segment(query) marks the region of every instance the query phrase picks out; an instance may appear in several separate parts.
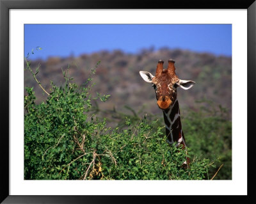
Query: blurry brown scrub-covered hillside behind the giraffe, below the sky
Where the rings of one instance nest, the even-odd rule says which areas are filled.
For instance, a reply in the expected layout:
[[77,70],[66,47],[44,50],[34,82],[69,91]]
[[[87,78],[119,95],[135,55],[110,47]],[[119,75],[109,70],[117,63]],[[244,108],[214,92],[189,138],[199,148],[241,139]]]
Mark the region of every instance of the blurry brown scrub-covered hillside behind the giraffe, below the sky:
[[[195,109],[196,100],[212,100],[220,104],[228,111],[228,118],[231,119],[231,86],[232,68],[231,58],[225,56],[214,56],[207,53],[196,53],[182,51],[179,49],[169,50],[144,49],[139,54],[125,54],[122,51],[102,51],[93,54],[83,54],[79,57],[49,58],[47,61],[31,61],[31,67],[37,67],[40,63],[38,78],[44,85],[45,90],[51,87],[51,81],[60,85],[63,82],[61,68],[70,67],[70,75],[81,85],[90,74],[90,68],[97,66],[94,82],[97,86],[94,92],[108,93],[111,95],[104,104],[99,104],[100,109],[115,109],[129,113],[124,106],[132,107],[139,111],[142,106],[145,113],[162,115],[156,105],[156,96],[152,87],[141,80],[139,71],[145,70],[155,74],[156,65],[159,59],[165,61],[175,59],[176,72],[180,79],[193,80],[196,85],[189,91],[178,90],[179,104],[182,107]],[[47,98],[42,95],[42,89],[37,86],[33,76],[25,73],[25,86],[35,88],[36,102]]]

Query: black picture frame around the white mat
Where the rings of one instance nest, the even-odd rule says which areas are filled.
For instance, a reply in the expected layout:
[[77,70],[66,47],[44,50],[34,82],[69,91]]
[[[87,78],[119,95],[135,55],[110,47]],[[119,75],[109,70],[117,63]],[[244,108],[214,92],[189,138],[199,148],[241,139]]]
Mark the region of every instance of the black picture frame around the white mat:
[[[247,39],[248,39],[248,63],[247,63],[247,138],[248,138],[248,195],[247,196],[10,196],[9,189],[9,11],[10,9],[246,9],[247,19]],[[104,1],[104,0],[0,0],[1,13],[1,46],[0,46],[0,96],[1,96],[1,177],[0,177],[0,201],[3,203],[140,203],[150,202],[193,202],[207,201],[211,203],[243,202],[255,203],[253,184],[253,164],[255,161],[255,134],[253,131],[253,116],[255,115],[254,104],[256,87],[256,2],[255,0],[182,0],[168,2],[156,1]],[[245,67],[246,65],[244,65]],[[244,86],[241,81],[241,86]],[[246,91],[246,90],[244,90]],[[243,105],[242,105],[243,106]],[[246,132],[246,131],[244,131]],[[244,134],[243,137],[246,137]]]

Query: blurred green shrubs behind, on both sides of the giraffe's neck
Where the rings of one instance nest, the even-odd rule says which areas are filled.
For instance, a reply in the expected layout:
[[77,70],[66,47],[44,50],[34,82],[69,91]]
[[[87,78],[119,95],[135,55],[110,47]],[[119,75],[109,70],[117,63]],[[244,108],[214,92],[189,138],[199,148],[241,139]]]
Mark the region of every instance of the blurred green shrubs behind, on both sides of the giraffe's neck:
[[[127,107],[127,109],[131,111],[131,114],[109,111],[105,116],[109,122],[115,118],[118,127],[125,128],[125,118],[129,118],[131,125],[136,125],[140,121],[139,115],[145,114],[143,107],[138,113],[135,113],[131,107]],[[101,113],[103,110],[99,110],[99,112]],[[232,122],[227,109],[211,100],[204,99],[197,101],[195,110],[181,107],[181,117],[182,130],[185,134],[186,145],[190,148],[191,158],[207,158],[214,161],[216,167],[210,168],[208,171],[210,178],[232,179]],[[154,121],[152,131],[156,131],[158,127],[164,127],[161,114],[147,113],[147,119]],[[163,133],[160,137],[165,137],[165,134]]]

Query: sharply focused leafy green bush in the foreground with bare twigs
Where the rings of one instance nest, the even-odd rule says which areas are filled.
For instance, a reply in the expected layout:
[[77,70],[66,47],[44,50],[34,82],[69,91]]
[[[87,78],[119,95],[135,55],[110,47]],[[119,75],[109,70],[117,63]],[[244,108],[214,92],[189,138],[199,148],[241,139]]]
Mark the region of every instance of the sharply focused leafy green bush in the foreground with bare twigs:
[[[27,70],[34,73],[29,63]],[[93,72],[94,73],[94,72]],[[214,159],[191,158],[168,145],[156,120],[140,118],[136,125],[125,117],[123,127],[107,127],[106,119],[92,114],[92,100],[104,102],[109,95],[92,96],[91,77],[77,86],[63,71],[65,84],[51,84],[51,93],[35,103],[33,88],[24,97],[24,178],[102,180],[201,180],[209,179]],[[38,84],[40,82],[36,79]],[[190,150],[188,150],[190,155]]]

